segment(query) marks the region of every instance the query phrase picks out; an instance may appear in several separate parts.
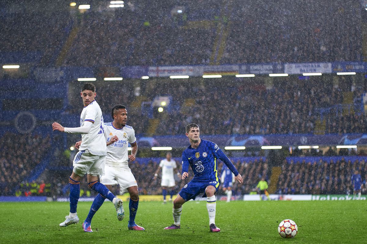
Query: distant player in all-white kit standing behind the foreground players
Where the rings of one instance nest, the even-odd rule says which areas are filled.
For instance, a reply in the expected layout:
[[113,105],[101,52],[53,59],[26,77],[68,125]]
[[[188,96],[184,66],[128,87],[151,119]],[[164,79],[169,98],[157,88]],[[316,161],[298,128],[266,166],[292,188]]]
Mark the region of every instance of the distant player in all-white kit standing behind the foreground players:
[[167,188],[170,190],[170,201],[172,200],[172,196],[175,194],[174,187],[175,187],[175,178],[174,178],[174,169],[177,170],[177,174],[180,176],[181,174],[178,172],[176,161],[172,159],[172,154],[167,153],[166,159],[162,159],[159,163],[159,166],[154,173],[154,180],[157,179],[159,170],[162,169],[162,180],[161,180],[161,187],[162,187],[162,195],[163,195],[163,203],[166,203],[166,196],[167,196]]

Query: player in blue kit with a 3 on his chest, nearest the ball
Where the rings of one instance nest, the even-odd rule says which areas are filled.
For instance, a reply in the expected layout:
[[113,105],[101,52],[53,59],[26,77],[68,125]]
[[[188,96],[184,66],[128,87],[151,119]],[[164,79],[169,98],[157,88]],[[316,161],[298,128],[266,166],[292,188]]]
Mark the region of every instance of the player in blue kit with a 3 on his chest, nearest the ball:
[[243,179],[217,144],[200,139],[200,131],[197,124],[188,124],[186,126],[186,136],[189,138],[191,145],[182,152],[181,178],[183,180],[189,176],[189,165],[194,172],[194,177],[181,189],[177,198],[173,201],[172,215],[174,224],[164,229],[180,229],[182,204],[204,193],[203,197],[207,197],[209,229],[211,232],[219,232],[220,229],[215,225],[216,200],[214,195],[218,191],[220,183],[217,158],[221,159],[228,166],[232,173],[235,174],[235,179],[239,183],[242,184]]

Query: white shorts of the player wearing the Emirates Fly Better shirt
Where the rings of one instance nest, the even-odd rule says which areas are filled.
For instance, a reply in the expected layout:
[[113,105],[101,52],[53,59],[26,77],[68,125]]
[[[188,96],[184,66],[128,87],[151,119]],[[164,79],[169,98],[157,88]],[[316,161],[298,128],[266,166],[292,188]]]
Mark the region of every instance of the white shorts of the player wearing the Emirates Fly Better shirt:
[[138,186],[134,175],[129,166],[114,167],[105,165],[105,174],[99,179],[104,185],[120,185],[120,194],[126,192],[126,189],[132,186]]

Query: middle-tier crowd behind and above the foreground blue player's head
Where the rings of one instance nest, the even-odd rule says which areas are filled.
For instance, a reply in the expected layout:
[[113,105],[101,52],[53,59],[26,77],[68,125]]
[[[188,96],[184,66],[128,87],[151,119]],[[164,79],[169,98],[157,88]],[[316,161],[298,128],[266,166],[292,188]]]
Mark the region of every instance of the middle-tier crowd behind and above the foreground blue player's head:
[[[320,119],[316,108],[343,101],[339,89],[308,83],[275,85],[270,89],[240,83],[213,89],[211,84],[206,84],[193,87],[190,93],[183,85],[177,89],[162,85],[154,92],[156,95],[172,93],[181,105],[180,110],[162,115],[156,131],[159,135],[180,135],[189,123],[201,125],[204,134],[311,134]],[[185,106],[187,100],[193,104]],[[345,115],[348,116],[352,115]],[[340,117],[343,117],[341,113],[338,117],[330,113],[328,118],[337,123]],[[337,125],[333,127],[337,132],[350,130],[346,128],[348,124]]]

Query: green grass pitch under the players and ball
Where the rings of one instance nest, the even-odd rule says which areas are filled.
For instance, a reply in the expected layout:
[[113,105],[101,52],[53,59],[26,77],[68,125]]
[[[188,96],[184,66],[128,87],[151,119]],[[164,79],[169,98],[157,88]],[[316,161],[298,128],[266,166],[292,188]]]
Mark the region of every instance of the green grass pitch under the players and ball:
[[[105,202],[92,220],[93,233],[85,233],[81,224],[90,206],[80,202],[79,224],[61,228],[69,203],[0,203],[0,243],[367,243],[364,201],[218,201],[219,233],[209,232],[206,202],[183,205],[179,230],[163,229],[173,223],[172,203],[140,202],[136,223],[145,231],[127,229],[128,202],[123,221],[117,221],[113,204]],[[298,225],[294,239],[277,232],[287,218]]]

